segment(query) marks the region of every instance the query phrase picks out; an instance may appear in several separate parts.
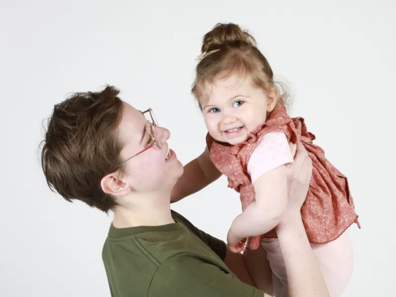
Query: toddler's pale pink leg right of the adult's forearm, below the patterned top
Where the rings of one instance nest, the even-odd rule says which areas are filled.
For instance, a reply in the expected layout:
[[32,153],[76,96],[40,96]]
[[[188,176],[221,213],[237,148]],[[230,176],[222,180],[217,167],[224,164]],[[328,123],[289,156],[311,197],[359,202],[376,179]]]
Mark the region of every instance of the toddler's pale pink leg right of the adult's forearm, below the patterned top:
[[311,244],[331,297],[340,297],[353,270],[353,248],[347,232],[324,245]]

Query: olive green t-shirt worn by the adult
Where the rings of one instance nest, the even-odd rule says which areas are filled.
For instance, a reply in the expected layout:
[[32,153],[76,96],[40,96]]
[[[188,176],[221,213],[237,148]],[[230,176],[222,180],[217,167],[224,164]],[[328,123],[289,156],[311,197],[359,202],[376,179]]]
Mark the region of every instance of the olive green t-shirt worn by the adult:
[[102,258],[112,297],[262,297],[223,262],[225,243],[172,211],[175,223],[110,227]]

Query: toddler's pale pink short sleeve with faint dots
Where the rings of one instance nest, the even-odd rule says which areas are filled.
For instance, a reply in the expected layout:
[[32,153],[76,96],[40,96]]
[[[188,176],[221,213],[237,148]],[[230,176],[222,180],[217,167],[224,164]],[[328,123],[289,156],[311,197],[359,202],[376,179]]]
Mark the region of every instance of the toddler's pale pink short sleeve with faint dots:
[[270,132],[264,135],[254,148],[247,163],[247,173],[254,183],[265,173],[294,160],[286,135],[283,132]]

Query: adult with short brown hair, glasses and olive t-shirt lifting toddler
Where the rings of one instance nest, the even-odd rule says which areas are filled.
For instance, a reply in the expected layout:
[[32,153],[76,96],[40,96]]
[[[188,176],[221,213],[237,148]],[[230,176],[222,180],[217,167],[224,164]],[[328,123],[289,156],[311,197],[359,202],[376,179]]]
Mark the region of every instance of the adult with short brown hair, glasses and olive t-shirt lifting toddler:
[[[158,126],[152,110],[138,111],[118,93],[106,87],[55,105],[42,150],[51,189],[114,213],[102,253],[111,296],[267,296],[236,277],[252,284],[241,254],[227,254],[224,242],[171,211],[171,191],[183,166],[168,148],[169,131]],[[289,209],[277,233],[289,295],[327,297],[299,214],[308,160],[298,147],[289,170]]]

